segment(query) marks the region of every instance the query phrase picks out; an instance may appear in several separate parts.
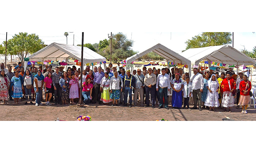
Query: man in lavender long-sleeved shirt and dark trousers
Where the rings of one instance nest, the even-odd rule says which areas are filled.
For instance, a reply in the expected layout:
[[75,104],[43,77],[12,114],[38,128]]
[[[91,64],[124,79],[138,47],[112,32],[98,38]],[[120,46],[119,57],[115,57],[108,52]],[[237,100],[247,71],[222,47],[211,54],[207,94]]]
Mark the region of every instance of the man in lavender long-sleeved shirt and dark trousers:
[[96,103],[97,101],[99,102],[99,104],[101,104],[101,91],[100,91],[100,88],[101,88],[101,79],[103,78],[104,76],[104,72],[101,71],[101,67],[99,66],[98,67],[98,72],[95,73],[94,75],[94,79],[93,79],[93,87],[95,89],[95,96],[94,96],[94,102],[93,103]]

